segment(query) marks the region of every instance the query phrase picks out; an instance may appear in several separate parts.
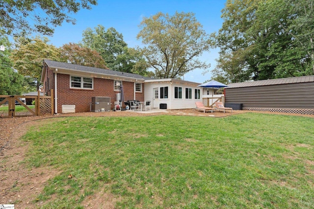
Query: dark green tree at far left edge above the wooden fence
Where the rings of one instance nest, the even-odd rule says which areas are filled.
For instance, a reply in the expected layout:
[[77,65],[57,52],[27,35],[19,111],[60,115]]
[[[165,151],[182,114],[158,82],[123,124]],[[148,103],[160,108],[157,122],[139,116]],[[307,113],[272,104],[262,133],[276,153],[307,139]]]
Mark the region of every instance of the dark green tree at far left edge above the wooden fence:
[[0,95],[21,94],[23,91],[23,76],[14,71],[9,58],[11,44],[5,35],[0,34],[0,46],[5,50],[0,51]]

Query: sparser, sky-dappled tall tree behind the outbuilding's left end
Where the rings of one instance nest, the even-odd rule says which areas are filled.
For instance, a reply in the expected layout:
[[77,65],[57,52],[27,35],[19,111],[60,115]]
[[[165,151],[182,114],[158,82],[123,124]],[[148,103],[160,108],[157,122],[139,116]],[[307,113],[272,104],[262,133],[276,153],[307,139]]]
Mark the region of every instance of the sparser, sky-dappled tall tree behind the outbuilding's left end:
[[[252,37],[247,30],[256,21],[255,11],[260,0],[227,0],[222,10],[222,27],[211,34],[212,46],[219,47],[213,77],[224,76],[229,82],[250,80],[255,69],[251,59]],[[253,67],[252,67],[253,66]]]

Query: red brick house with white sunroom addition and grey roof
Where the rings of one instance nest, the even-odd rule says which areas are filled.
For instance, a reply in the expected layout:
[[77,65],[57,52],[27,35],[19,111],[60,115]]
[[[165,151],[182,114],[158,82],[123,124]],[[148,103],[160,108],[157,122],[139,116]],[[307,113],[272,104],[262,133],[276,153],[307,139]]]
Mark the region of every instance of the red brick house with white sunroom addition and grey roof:
[[199,83],[154,79],[51,60],[43,62],[41,82],[46,95],[51,95],[53,90],[54,113],[61,113],[62,106],[66,105],[75,105],[75,112],[89,112],[92,97],[96,96],[110,97],[113,109],[121,84],[125,101],[152,100],[153,108],[158,108],[160,103],[168,105],[167,109],[194,108],[195,101],[202,101]]

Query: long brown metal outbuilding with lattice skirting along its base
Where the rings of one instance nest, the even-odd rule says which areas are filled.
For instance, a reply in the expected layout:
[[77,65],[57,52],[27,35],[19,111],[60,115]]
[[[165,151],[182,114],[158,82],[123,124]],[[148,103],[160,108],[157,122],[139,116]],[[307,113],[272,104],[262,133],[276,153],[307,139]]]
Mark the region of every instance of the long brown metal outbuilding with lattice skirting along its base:
[[314,114],[314,75],[230,83],[225,102],[243,110]]

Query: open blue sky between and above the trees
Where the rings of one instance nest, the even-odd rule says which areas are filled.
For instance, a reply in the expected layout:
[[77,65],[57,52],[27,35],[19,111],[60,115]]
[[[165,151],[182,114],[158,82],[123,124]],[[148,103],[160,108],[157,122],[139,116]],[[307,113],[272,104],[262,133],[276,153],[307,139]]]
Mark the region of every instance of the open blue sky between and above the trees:
[[[71,15],[77,20],[75,25],[63,23],[56,27],[54,35],[48,37],[50,44],[62,46],[68,43],[78,43],[82,39],[82,33],[90,27],[105,26],[105,29],[114,27],[122,33],[124,41],[129,47],[141,46],[141,41],[136,40],[139,32],[138,25],[143,17],[150,17],[157,12],[173,15],[178,12],[193,12],[203,29],[208,33],[218,31],[222,25],[221,10],[226,0],[98,0],[98,5],[92,10],[80,10]],[[209,70],[214,69],[218,58],[218,49],[210,49],[200,58],[210,63]],[[202,75],[203,70],[197,69],[184,75],[184,80],[204,83],[211,77],[210,72]]]

